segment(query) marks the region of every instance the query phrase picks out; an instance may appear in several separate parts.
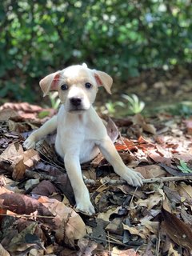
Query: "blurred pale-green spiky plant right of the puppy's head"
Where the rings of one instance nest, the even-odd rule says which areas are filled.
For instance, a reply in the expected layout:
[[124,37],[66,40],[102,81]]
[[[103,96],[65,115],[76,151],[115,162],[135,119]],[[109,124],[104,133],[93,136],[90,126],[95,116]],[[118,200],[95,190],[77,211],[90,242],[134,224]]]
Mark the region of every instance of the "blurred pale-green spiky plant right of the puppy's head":
[[122,94],[122,98],[125,98],[126,101],[130,103],[129,109],[133,114],[141,113],[145,107],[145,103],[140,101],[138,96],[135,94],[131,94],[131,96]]

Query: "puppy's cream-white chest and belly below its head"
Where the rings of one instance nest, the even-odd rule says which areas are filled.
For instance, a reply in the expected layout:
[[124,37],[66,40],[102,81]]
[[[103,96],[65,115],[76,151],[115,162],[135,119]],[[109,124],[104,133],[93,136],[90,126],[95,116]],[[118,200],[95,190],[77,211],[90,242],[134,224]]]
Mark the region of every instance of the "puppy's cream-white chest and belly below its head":
[[64,158],[66,154],[78,156],[80,162],[87,162],[98,154],[91,129],[81,116],[58,113],[58,130],[55,149]]

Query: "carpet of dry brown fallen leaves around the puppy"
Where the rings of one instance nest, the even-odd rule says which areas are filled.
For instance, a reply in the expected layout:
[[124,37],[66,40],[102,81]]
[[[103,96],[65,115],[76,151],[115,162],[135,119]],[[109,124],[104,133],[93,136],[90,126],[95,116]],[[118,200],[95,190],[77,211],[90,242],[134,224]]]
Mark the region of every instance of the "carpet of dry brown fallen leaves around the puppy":
[[108,134],[144,185],[128,186],[98,154],[82,165],[96,209],[87,216],[75,209],[55,135],[35,150],[22,147],[45,122],[41,111],[26,103],[0,107],[0,255],[191,255],[190,119],[137,114],[115,119],[116,126],[110,119]]

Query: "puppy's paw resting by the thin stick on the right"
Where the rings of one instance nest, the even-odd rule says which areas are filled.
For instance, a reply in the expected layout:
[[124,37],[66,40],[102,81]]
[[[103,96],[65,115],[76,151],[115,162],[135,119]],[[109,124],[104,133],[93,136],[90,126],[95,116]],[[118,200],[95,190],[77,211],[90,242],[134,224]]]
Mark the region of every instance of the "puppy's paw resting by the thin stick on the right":
[[126,171],[122,174],[122,178],[126,180],[128,184],[131,186],[142,186],[142,174],[131,170],[130,168],[126,167]]

